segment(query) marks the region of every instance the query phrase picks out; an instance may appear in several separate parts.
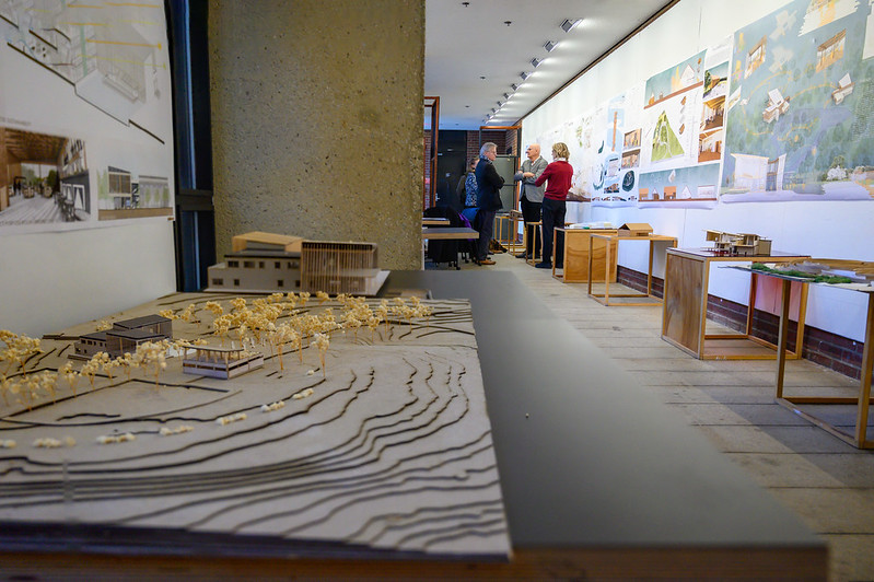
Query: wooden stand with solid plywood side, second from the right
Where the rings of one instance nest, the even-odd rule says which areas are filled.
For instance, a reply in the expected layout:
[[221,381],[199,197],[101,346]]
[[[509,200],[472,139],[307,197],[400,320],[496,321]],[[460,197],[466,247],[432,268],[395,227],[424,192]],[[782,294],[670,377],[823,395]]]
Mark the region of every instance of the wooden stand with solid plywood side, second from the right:
[[[767,256],[729,256],[707,248],[668,248],[665,264],[665,295],[662,313],[662,339],[699,360],[772,360],[776,346],[750,335],[756,304],[756,275],[749,287],[746,331],[707,334],[708,281],[712,263],[794,263],[809,255],[773,252]],[[807,286],[802,283],[799,307],[796,352],[801,358]],[[708,344],[709,342],[709,344]]]

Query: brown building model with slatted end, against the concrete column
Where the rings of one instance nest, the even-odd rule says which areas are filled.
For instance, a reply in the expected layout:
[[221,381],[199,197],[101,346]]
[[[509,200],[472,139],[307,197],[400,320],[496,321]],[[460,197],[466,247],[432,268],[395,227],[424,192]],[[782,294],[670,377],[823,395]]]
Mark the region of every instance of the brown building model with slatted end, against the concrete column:
[[374,295],[388,277],[378,268],[374,243],[249,232],[234,236],[231,247],[224,263],[209,267],[207,291]]

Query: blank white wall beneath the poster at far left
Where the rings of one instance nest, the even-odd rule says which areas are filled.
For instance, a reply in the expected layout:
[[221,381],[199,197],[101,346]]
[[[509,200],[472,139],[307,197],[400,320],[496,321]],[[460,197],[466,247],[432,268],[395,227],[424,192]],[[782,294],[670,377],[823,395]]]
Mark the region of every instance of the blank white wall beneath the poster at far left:
[[175,290],[170,221],[0,237],[0,329],[39,337]]

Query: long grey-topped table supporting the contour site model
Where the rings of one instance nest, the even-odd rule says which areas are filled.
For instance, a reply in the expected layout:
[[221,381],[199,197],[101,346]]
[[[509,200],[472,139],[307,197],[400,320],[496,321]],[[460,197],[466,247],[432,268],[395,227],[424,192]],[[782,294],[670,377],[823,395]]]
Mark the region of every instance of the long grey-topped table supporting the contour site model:
[[[150,547],[137,538],[125,546],[112,533],[94,531],[92,542],[105,554],[80,554],[86,539],[65,542],[70,534],[63,528],[36,526],[0,529],[3,572],[22,579],[74,579],[88,572],[91,580],[435,573],[446,579],[826,580],[823,539],[512,272],[393,271],[382,293],[409,289],[470,301],[514,548],[511,561],[303,559],[259,536],[237,540],[247,547],[241,555],[238,546],[232,551],[208,535],[182,544],[185,533],[172,529],[163,545]],[[520,350],[523,336],[529,341]],[[39,554],[16,551],[11,542],[22,538],[38,544]]]

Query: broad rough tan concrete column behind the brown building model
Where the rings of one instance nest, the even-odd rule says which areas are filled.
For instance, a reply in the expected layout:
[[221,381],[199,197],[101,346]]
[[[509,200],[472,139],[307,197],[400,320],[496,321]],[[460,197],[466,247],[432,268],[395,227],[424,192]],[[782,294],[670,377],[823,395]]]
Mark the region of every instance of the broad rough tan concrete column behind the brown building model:
[[217,248],[248,231],[421,265],[424,0],[211,0]]

